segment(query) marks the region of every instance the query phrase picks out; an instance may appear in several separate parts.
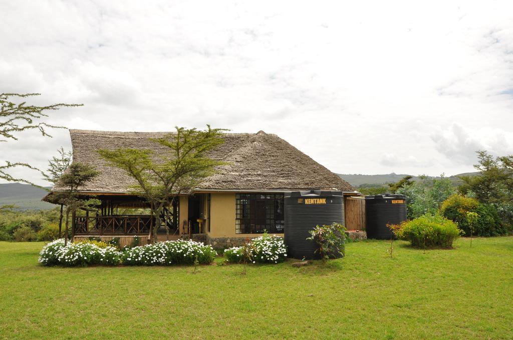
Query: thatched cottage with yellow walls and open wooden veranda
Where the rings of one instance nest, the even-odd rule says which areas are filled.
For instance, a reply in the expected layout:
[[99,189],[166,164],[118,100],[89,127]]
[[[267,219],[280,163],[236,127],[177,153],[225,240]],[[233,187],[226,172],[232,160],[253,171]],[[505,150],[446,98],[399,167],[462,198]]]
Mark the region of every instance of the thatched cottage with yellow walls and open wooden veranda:
[[[100,172],[80,191],[102,201],[96,216],[73,219],[75,238],[149,238],[153,219],[147,215],[147,203],[131,194],[130,186],[135,183],[121,169],[107,165],[96,151],[150,148],[158,157],[166,151],[150,138],[166,134],[70,130],[73,161],[90,164]],[[264,230],[283,233],[285,192],[330,189],[354,193],[349,183],[277,135],[263,131],[228,133],[224,139],[209,156],[229,162],[228,165],[220,167],[217,174],[204,180],[192,193],[182,195],[178,204],[166,210],[163,223],[171,227],[173,238],[187,235],[224,246],[257,237]],[[52,191],[63,189],[57,183]],[[164,225],[155,227],[165,230]]]

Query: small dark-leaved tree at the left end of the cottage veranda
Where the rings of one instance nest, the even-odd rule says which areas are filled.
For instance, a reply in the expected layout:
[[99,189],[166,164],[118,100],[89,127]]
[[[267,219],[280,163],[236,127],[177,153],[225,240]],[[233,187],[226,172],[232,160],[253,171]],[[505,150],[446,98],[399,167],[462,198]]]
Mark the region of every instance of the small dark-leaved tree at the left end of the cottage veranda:
[[69,215],[75,215],[76,210],[96,210],[96,206],[101,204],[100,200],[87,199],[84,200],[80,197],[78,189],[85,183],[91,181],[98,176],[98,172],[90,165],[84,163],[73,163],[69,166],[69,171],[61,176],[59,183],[66,189],[63,192],[56,193],[56,201],[66,206],[66,229],[64,245],[68,243],[69,235]]

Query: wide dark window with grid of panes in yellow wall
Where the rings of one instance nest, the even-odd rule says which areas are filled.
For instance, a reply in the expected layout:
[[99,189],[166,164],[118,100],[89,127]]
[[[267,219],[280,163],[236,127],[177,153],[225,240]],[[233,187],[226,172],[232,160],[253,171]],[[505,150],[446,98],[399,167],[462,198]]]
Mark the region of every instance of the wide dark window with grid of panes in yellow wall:
[[283,232],[283,194],[236,194],[235,232]]

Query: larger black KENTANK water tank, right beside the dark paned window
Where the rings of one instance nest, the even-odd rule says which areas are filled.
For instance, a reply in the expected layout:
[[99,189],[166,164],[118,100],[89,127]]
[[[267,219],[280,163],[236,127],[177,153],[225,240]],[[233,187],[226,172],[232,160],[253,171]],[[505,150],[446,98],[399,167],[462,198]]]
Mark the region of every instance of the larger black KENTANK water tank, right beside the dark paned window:
[[293,259],[320,259],[309,230],[316,225],[344,224],[342,192],[308,190],[285,194],[285,244]]

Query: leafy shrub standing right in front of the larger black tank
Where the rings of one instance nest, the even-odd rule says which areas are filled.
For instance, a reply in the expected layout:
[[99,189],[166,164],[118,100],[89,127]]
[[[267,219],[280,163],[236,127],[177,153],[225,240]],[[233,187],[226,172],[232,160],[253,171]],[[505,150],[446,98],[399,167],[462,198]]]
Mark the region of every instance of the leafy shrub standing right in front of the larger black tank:
[[315,241],[319,245],[315,253],[320,254],[324,264],[330,258],[345,256],[345,231],[340,223],[317,225],[308,231],[311,236],[307,240]]

